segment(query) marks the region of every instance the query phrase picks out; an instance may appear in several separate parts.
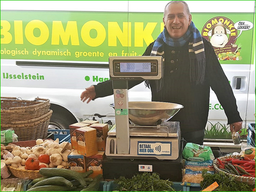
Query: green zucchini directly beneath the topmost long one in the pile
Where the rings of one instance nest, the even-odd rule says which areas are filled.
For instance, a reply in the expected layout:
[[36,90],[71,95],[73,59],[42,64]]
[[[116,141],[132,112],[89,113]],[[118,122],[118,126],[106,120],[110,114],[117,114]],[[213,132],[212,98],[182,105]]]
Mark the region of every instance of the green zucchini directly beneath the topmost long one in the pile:
[[73,183],[71,183],[69,180],[63,178],[63,177],[50,177],[48,179],[42,180],[37,182],[32,186],[33,187],[38,187],[38,186],[44,186],[44,185],[66,185],[69,187],[73,186]]

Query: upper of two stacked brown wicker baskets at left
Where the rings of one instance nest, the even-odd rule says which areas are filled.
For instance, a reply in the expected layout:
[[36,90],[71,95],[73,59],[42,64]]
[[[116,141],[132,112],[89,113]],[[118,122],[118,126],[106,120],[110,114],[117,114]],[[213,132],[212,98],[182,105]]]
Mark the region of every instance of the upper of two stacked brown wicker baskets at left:
[[50,110],[50,100],[19,100],[16,97],[1,97],[1,123],[11,123],[38,118]]

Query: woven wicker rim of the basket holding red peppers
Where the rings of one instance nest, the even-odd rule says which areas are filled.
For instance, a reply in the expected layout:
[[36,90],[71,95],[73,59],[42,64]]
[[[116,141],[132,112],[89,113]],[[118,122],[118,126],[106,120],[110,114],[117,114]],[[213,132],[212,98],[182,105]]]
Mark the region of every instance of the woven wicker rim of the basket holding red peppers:
[[[239,155],[227,155],[227,156],[219,157],[219,159],[220,160],[224,160],[227,158],[239,159],[240,157],[241,156],[239,156]],[[253,177],[243,177],[243,176],[238,176],[238,175],[232,175],[232,174],[226,173],[223,170],[219,169],[217,166],[217,159],[214,160],[214,168],[217,173],[221,172],[230,177],[234,177],[234,180],[236,180],[236,181],[241,181],[241,182],[249,184],[249,185],[255,185],[255,178],[253,178]]]

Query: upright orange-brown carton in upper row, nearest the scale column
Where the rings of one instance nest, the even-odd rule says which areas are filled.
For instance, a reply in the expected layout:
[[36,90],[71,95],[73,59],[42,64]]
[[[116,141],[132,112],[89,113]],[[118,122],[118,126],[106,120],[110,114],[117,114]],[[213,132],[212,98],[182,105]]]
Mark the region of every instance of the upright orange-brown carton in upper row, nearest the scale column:
[[109,124],[106,123],[95,123],[90,125],[97,130],[97,145],[98,151],[105,151],[106,148],[106,137],[108,137]]

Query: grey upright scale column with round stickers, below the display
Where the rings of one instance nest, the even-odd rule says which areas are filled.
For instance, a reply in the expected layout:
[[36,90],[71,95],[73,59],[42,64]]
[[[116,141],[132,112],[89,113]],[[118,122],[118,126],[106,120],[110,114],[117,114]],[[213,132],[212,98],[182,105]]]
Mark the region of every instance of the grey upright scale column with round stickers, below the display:
[[128,81],[113,80],[117,154],[130,154]]

